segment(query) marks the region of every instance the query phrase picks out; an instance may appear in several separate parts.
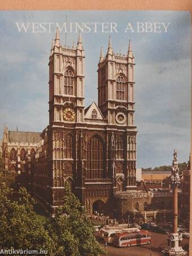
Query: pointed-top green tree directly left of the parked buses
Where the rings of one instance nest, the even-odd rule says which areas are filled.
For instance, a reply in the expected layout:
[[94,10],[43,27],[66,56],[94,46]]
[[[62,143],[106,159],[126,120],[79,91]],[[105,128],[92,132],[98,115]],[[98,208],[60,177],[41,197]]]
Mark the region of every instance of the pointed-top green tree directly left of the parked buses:
[[66,187],[64,203],[51,219],[49,231],[60,246],[58,256],[63,251],[67,256],[97,256],[104,253],[94,237],[94,228],[85,214],[84,207]]

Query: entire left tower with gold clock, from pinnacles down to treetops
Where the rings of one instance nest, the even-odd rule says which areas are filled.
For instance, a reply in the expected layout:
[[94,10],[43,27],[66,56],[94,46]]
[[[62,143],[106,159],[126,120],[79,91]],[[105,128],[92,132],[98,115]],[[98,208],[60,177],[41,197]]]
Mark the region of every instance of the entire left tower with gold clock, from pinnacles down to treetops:
[[49,61],[49,126],[45,132],[52,208],[62,201],[66,182],[82,199],[84,155],[77,149],[85,141],[85,133],[78,129],[84,123],[84,63],[81,34],[77,47],[63,46],[57,28]]

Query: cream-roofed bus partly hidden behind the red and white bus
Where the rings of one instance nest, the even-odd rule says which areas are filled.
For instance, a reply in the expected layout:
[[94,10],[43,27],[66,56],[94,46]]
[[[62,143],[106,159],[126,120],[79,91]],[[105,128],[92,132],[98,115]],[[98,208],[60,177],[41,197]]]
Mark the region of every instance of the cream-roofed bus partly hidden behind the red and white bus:
[[106,230],[104,232],[104,241],[107,242],[107,244],[112,244],[112,242],[114,241],[115,235],[117,233],[122,233],[122,232],[140,232],[140,229],[116,227],[116,229]]

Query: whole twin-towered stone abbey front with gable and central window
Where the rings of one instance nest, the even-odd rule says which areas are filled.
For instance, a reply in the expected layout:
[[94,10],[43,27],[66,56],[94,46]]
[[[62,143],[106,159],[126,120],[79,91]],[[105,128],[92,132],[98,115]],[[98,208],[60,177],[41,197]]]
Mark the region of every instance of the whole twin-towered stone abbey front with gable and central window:
[[49,125],[32,162],[33,194],[52,214],[68,183],[88,214],[113,214],[115,194],[136,190],[135,62],[114,54],[111,38],[98,63],[98,106],[84,106],[85,50],[60,44],[49,58]]

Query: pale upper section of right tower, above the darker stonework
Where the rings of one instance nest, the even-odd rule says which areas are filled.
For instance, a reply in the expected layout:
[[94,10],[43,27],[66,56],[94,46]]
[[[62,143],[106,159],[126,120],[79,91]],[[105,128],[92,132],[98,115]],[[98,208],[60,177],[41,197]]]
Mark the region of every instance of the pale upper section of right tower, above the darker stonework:
[[[134,55],[129,40],[128,54],[114,54],[111,37],[106,57],[101,49],[98,64],[98,106],[108,124],[134,125]],[[118,109],[126,108],[124,115]]]

